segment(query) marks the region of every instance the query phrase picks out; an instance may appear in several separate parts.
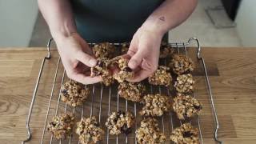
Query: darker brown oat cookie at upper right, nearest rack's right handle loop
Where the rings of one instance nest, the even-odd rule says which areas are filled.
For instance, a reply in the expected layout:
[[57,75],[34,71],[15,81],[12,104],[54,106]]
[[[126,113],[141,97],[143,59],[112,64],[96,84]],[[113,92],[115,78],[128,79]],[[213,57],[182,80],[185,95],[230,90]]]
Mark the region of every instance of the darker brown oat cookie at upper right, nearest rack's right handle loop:
[[194,62],[186,55],[175,54],[171,62],[169,63],[170,68],[175,74],[185,74],[194,70]]

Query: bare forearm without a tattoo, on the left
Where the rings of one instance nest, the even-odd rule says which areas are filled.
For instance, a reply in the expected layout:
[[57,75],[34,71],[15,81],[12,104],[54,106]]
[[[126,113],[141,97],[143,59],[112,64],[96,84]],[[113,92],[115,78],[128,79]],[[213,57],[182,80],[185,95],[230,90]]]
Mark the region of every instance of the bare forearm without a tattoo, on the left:
[[76,32],[69,0],[38,0],[38,6],[54,38]]

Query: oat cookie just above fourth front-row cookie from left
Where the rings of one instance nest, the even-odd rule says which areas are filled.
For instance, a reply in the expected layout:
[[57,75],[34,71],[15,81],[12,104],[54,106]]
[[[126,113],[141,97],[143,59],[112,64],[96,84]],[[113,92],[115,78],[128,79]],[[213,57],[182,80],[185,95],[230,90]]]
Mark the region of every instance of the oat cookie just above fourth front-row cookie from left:
[[170,110],[170,98],[160,94],[147,94],[142,98],[142,110],[139,114],[143,116],[162,116]]

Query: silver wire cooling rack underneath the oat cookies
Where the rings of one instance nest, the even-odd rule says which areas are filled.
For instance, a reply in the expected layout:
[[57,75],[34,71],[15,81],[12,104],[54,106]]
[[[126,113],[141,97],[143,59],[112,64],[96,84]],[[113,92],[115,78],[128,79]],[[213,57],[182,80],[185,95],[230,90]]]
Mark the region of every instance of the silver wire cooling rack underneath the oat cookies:
[[[26,129],[27,129],[27,138],[22,143],[30,142],[33,135],[33,130],[30,130],[30,121],[31,121],[31,115],[33,114],[33,107],[35,99],[37,98],[38,94],[38,86],[42,78],[42,74],[44,71],[44,66],[46,65],[46,61],[51,61],[51,50],[50,45],[53,39],[51,38],[47,44],[47,54],[46,57],[43,58],[42,64],[39,70],[38,79],[36,82],[36,85],[34,87],[34,94],[32,96],[32,100],[30,103],[30,110],[27,115],[26,119]],[[220,140],[218,140],[218,129],[219,129],[219,123],[218,123],[218,117],[217,112],[215,110],[214,106],[214,98],[213,94],[211,92],[210,87],[210,81],[208,77],[208,73],[206,70],[206,63],[204,61],[204,58],[202,58],[201,55],[201,46],[197,38],[190,38],[188,42],[181,42],[181,43],[169,43],[171,48],[174,48],[175,51],[178,54],[186,54],[186,56],[189,55],[188,47],[195,44],[195,51],[194,55],[195,60],[198,62],[198,67],[200,67],[202,70],[201,78],[204,77],[206,81],[206,93],[209,96],[209,105],[210,105],[210,111],[212,114],[211,118],[214,118],[214,129],[210,137],[214,139],[215,142],[222,143]],[[115,46],[120,46],[119,43],[114,43]],[[193,51],[191,51],[193,52]],[[191,55],[191,54],[190,54]],[[159,62],[161,65],[166,65],[166,59],[161,59]],[[47,63],[48,64],[48,63]],[[141,110],[142,106],[138,103],[134,102],[128,102],[124,100],[123,98],[119,98],[118,92],[117,92],[117,85],[114,86],[103,86],[102,84],[94,84],[90,85],[90,88],[92,90],[90,94],[90,98],[88,98],[84,105],[77,106],[77,107],[70,107],[67,106],[64,102],[60,101],[60,86],[62,86],[63,82],[66,81],[66,72],[65,70],[61,70],[60,67],[62,66],[61,58],[58,56],[58,61],[56,64],[56,68],[54,71],[54,79],[53,84],[50,91],[50,98],[49,103],[46,110],[46,116],[45,121],[42,124],[42,136],[40,138],[40,141],[37,143],[79,143],[78,142],[78,136],[77,134],[70,134],[70,138],[66,140],[56,140],[53,138],[53,135],[46,131],[46,125],[47,122],[51,121],[51,118],[54,115],[61,114],[61,113],[70,113],[74,114],[75,118],[80,120],[82,117],[92,117],[96,116],[98,119],[98,122],[101,124],[102,128],[106,131],[106,135],[103,138],[103,140],[100,143],[137,143],[135,138],[135,130],[140,125],[140,120],[142,117],[138,114],[138,111]],[[198,69],[200,69],[198,68]],[[49,73],[49,72],[48,72]],[[61,75],[61,82],[57,82],[58,75]],[[165,94],[167,96],[173,97],[174,94],[172,94],[172,90],[169,90],[165,86],[152,86],[149,84],[146,84],[147,92],[149,94]],[[54,94],[54,90],[58,90],[58,94]],[[194,97],[198,97],[197,94],[193,94]],[[56,106],[51,106],[52,102],[56,100],[57,104]],[[200,99],[198,99],[200,101]],[[135,126],[133,128],[133,132],[128,135],[122,135],[119,134],[118,136],[112,136],[109,134],[108,130],[106,130],[106,127],[104,126],[104,122],[106,122],[107,115],[110,114],[111,111],[114,110],[130,110],[134,113],[136,117]],[[158,118],[158,124],[161,128],[162,132],[166,134],[166,143],[170,142],[169,136],[172,130],[174,130],[175,127],[182,125],[184,122],[190,122],[195,127],[198,127],[199,130],[199,138],[200,143],[204,143],[204,134],[202,130],[202,121],[200,119],[201,116],[196,116],[194,118],[186,119],[186,120],[178,120],[176,114],[173,112],[169,112],[168,114],[164,114],[161,118]],[[207,125],[206,125],[207,126]],[[207,128],[207,127],[206,127]],[[205,142],[207,143],[207,142]]]

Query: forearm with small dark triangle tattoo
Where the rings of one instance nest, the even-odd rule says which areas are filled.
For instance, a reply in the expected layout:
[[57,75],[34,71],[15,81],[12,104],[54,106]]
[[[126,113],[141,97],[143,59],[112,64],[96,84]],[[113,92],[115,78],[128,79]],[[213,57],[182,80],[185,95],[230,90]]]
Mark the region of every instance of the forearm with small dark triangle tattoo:
[[166,0],[143,23],[142,28],[166,34],[168,30],[180,25],[197,6],[198,0]]

